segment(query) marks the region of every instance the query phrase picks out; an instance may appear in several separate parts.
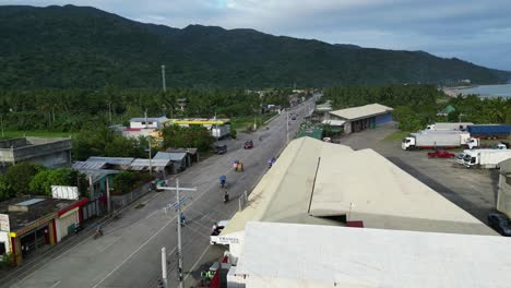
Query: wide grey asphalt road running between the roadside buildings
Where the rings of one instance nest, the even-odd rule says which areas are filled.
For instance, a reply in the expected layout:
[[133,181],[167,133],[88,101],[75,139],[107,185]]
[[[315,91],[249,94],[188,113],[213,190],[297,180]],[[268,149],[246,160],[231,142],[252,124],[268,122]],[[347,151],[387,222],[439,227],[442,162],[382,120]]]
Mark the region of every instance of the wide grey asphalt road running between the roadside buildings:
[[[299,117],[289,118],[289,139],[293,139],[311,100],[290,110]],[[238,209],[238,197],[251,192],[266,171],[266,160],[277,156],[286,145],[286,115],[276,117],[269,129],[251,134],[238,133],[237,140],[223,141],[228,146],[225,155],[213,156],[195,164],[178,175],[180,185],[197,188],[197,192],[181,192],[192,200],[183,212],[188,224],[182,228],[185,287],[192,286],[200,271],[218,259],[223,251],[210,245],[213,224],[230,218]],[[259,140],[262,137],[262,141]],[[253,140],[253,149],[243,149],[246,140]],[[245,172],[235,172],[233,161],[245,164]],[[218,177],[227,176],[231,201],[223,203]],[[174,185],[175,180],[170,181]],[[176,212],[164,207],[175,203],[173,191],[148,193],[139,205],[127,208],[121,218],[104,226],[104,236],[94,240],[92,233],[81,236],[75,244],[69,244],[58,255],[46,257],[37,265],[24,267],[2,287],[60,288],[60,287],[157,287],[162,278],[161,250],[168,254],[169,287],[177,287],[177,224]]]

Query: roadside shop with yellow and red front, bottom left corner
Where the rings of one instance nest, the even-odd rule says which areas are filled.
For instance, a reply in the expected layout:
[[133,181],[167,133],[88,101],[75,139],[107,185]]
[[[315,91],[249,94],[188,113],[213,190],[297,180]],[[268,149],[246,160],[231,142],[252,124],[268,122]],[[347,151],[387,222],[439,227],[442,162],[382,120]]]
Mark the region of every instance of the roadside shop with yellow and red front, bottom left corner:
[[82,219],[80,207],[86,203],[86,199],[46,197],[1,202],[0,248],[3,245],[3,251],[12,253],[16,264],[21,264],[33,252],[71,233]]

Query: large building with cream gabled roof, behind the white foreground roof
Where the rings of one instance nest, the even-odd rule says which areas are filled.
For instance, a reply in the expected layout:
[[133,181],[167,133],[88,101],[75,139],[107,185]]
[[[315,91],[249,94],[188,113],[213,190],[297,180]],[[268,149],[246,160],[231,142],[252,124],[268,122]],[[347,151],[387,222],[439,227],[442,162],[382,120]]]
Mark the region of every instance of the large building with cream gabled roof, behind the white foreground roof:
[[497,235],[375,151],[310,137],[289,143],[222,230],[235,257],[248,221]]

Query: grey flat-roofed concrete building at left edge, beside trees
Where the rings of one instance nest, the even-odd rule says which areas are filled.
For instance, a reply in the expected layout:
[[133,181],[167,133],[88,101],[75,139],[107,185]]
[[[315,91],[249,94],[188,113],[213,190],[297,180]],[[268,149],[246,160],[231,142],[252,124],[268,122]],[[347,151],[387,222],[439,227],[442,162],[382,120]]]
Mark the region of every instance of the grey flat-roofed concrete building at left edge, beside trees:
[[17,137],[0,141],[0,161],[3,167],[20,161],[43,165],[48,168],[71,164],[71,139]]

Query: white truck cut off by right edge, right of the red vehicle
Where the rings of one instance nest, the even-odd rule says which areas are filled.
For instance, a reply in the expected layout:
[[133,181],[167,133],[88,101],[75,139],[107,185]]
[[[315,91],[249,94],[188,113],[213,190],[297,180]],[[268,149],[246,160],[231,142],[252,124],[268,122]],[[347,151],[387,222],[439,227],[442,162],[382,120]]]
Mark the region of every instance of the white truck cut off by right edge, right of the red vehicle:
[[473,149],[463,153],[463,165],[468,168],[498,168],[501,161],[511,158],[511,149]]

